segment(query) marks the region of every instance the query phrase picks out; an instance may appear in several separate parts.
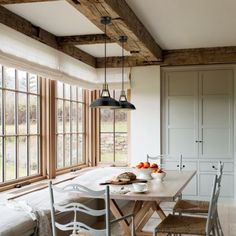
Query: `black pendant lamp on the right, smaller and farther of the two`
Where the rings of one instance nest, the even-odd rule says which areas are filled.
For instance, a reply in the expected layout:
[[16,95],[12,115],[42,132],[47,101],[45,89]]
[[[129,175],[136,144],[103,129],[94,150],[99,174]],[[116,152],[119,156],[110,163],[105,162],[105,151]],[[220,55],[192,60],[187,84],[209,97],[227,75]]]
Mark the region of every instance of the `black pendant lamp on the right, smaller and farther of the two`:
[[124,56],[124,43],[126,43],[128,40],[127,36],[120,36],[119,41],[122,44],[122,89],[120,93],[120,107],[117,109],[125,109],[125,110],[136,110],[135,106],[127,101],[127,97],[125,94],[125,89],[124,89],[124,61],[125,61],[125,56]]

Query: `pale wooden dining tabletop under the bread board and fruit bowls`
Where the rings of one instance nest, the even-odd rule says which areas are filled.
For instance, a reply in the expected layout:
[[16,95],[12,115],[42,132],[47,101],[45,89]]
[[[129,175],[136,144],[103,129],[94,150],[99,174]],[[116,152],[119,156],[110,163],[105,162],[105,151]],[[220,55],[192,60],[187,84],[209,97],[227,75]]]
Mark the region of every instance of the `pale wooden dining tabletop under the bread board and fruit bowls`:
[[[93,190],[104,189],[105,186],[99,185],[105,180],[109,180],[114,175],[118,175],[124,171],[135,170],[129,167],[105,167],[97,168],[89,171],[87,174],[75,178],[74,183],[82,184]],[[166,177],[163,182],[156,179],[148,180],[148,191],[144,193],[135,193],[132,185],[123,185],[125,191],[119,191],[122,186],[110,185],[111,199],[124,199],[133,201],[174,201],[177,196],[183,191],[187,184],[196,174],[196,170],[191,171],[166,171]]]

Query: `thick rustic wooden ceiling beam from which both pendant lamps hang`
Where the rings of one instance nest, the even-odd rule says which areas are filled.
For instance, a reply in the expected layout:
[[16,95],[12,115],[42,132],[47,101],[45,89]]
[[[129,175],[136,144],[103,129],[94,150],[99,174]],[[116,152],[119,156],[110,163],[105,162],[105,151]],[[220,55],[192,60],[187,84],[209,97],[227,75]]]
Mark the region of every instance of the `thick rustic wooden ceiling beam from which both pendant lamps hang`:
[[120,35],[127,35],[128,42],[125,44],[127,51],[147,61],[162,59],[160,46],[125,0],[67,0],[67,2],[102,31],[104,25],[100,23],[101,16],[110,16],[112,23],[107,27],[107,35],[117,43]]

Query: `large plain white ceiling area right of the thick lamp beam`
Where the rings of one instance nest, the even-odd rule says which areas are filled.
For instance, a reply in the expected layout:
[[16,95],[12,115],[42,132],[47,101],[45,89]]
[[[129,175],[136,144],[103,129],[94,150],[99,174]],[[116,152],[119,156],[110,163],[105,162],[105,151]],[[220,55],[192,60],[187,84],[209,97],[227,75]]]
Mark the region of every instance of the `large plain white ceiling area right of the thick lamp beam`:
[[236,0],[126,0],[165,49],[236,45]]

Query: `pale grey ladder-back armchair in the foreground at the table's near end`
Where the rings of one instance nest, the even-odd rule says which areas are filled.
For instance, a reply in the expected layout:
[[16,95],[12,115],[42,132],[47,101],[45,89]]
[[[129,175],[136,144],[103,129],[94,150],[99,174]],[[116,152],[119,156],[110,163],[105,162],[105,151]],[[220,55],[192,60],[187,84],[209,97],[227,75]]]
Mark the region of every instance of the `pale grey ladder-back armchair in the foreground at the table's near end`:
[[[89,235],[94,236],[111,236],[111,225],[113,223],[117,223],[121,220],[125,220],[127,218],[131,218],[131,235],[135,235],[135,227],[134,227],[134,217],[133,214],[128,214],[119,219],[110,219],[110,191],[109,186],[106,186],[105,190],[94,191],[83,185],[79,184],[68,184],[63,188],[59,188],[52,184],[49,181],[49,192],[50,192],[50,201],[51,201],[51,223],[52,223],[52,232],[53,236],[57,236],[57,229],[62,231],[72,231],[71,236],[80,235],[81,232],[87,232]],[[60,205],[55,203],[54,192],[59,192],[62,194],[68,194],[70,192],[76,192],[80,194],[80,196],[86,196],[91,198],[104,198],[105,200],[105,208],[104,209],[92,209],[82,203],[79,202],[71,202],[65,205]],[[56,214],[58,213],[69,213],[73,212],[74,216],[70,223],[61,224],[56,221]],[[78,221],[78,216],[80,213],[85,213],[87,215],[98,217],[105,216],[105,225],[104,229],[95,229],[91,226],[86,225],[85,223]]]

